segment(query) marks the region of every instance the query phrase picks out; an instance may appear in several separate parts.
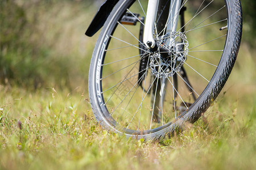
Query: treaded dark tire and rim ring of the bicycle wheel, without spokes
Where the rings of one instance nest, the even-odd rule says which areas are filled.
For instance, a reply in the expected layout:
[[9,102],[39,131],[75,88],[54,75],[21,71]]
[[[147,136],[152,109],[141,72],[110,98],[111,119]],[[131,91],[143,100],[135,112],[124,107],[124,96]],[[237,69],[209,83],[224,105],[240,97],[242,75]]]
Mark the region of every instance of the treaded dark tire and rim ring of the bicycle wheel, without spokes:
[[119,1],[114,7],[112,13],[109,15],[108,20],[106,20],[100,36],[98,37],[89,70],[90,104],[97,121],[106,129],[113,130],[116,133],[125,134],[127,137],[132,138],[160,138],[166,134],[173,133],[175,129],[182,127],[184,122],[188,121],[193,123],[197,121],[201,117],[201,114],[208,109],[213,100],[216,99],[218,94],[220,94],[222,87],[224,87],[224,84],[232,71],[240,47],[242,35],[241,3],[239,0],[225,1],[226,10],[228,11],[229,16],[229,28],[225,48],[222,53],[220,63],[205,90],[197,98],[195,103],[193,103],[187,111],[180,114],[175,121],[169,122],[159,128],[144,131],[125,128],[120,129],[116,122],[112,120],[108,109],[104,106],[104,97],[100,94],[102,87],[101,80],[99,78],[102,74],[102,70],[97,72],[97,69],[100,69],[97,67],[97,63],[104,61],[104,50],[102,51],[102,49],[105,49],[105,47],[108,46],[110,39],[109,35],[114,30],[116,21],[132,3],[133,1],[131,0]]

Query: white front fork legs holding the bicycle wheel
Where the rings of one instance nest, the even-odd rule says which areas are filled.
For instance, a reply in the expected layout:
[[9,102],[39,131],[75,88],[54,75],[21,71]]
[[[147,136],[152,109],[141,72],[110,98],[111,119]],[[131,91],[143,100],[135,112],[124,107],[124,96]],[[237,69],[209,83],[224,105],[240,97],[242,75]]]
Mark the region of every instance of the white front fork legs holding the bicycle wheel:
[[[155,30],[156,29],[155,20],[158,12],[159,0],[148,0],[146,23],[145,23],[144,34],[143,34],[143,42],[148,49],[154,48],[156,45],[156,42],[154,39],[155,31],[156,31],[156,34],[159,34],[159,35],[162,32],[170,33],[171,35],[171,32],[176,31],[177,22],[179,19],[181,1],[182,0],[171,0],[167,23],[164,27],[164,29],[166,30]],[[169,39],[170,41],[167,40],[166,42],[170,42],[169,46],[171,47],[172,44],[174,44],[175,39],[173,39],[172,37],[170,37]]]

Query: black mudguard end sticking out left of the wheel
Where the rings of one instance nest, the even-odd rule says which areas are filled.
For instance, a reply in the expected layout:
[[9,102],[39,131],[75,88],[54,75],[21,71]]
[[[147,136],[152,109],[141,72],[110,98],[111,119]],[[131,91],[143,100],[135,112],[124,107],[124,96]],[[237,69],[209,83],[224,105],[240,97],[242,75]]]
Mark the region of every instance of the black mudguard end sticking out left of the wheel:
[[85,35],[93,36],[106,22],[110,12],[113,10],[113,7],[117,4],[119,0],[106,0],[102,3],[101,7],[98,9],[96,15],[94,16],[92,22],[87,28]]

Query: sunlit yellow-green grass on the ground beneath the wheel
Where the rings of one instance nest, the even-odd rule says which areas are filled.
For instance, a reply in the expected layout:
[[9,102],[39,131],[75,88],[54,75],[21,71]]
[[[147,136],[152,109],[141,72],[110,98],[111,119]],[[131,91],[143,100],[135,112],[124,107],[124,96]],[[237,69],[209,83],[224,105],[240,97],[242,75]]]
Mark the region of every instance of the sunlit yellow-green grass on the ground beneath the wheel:
[[[94,120],[88,95],[1,86],[1,169],[254,169],[255,97],[220,97],[170,139],[136,141]],[[248,94],[247,94],[248,95]],[[243,96],[242,96],[243,97]],[[251,100],[253,99],[253,100]],[[206,123],[207,122],[207,123]]]

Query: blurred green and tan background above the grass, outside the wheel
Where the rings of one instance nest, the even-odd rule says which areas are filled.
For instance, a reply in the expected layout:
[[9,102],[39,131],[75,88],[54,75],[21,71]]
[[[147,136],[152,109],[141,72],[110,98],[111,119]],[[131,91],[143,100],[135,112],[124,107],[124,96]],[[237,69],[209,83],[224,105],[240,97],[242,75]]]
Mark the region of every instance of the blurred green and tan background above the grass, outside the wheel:
[[[1,0],[0,83],[32,89],[87,86],[98,34],[86,37],[84,32],[102,2]],[[242,1],[243,38],[238,56],[246,54],[253,63],[255,3]]]

